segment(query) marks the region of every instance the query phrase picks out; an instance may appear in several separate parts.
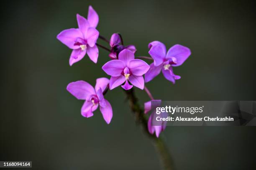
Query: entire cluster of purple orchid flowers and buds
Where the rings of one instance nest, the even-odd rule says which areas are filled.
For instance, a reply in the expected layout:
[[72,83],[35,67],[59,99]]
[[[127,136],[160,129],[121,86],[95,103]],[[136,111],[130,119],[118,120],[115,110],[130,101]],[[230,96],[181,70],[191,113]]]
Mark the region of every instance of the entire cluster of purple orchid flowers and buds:
[[[113,90],[115,87],[121,86],[124,90],[130,90],[135,86],[141,90],[144,89],[151,99],[144,104],[144,113],[146,114],[153,109],[151,101],[154,98],[144,85],[145,82],[153,80],[162,72],[164,77],[174,84],[175,80],[179,80],[181,77],[174,74],[172,67],[180,66],[187,60],[191,54],[189,48],[177,44],[166,52],[166,47],[162,42],[153,41],[148,44],[148,53],[151,57],[135,57],[136,47],[134,45],[125,46],[119,33],[114,33],[110,41],[100,36],[99,31],[96,30],[98,22],[98,14],[92,6],[89,6],[87,19],[77,14],[78,28],[61,31],[57,35],[57,39],[72,49],[69,58],[70,66],[82,60],[86,54],[90,60],[97,63],[98,47],[108,50],[110,61],[102,66],[102,70],[110,76],[110,79],[97,78],[95,87],[83,80],[71,82],[67,85],[67,90],[78,100],[85,100],[81,108],[82,116],[92,117],[93,112],[100,107],[105,122],[109,124],[113,117],[113,109],[110,102],[104,97],[108,89]],[[98,38],[108,42],[110,47],[98,44]],[[154,62],[148,65],[139,58],[154,60]],[[156,101],[161,102],[161,100]],[[159,134],[166,128],[166,123],[154,126],[152,125],[153,118],[154,114],[152,113],[148,117],[148,132],[155,133],[156,137],[159,137]]]

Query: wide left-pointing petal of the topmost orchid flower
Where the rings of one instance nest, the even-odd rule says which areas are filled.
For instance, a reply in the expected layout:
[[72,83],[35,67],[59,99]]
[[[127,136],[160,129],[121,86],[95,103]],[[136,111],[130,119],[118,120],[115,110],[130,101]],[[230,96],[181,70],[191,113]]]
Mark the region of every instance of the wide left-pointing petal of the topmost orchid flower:
[[75,28],[63,30],[57,35],[57,39],[71,49],[80,48],[79,45],[74,45],[74,44],[77,38],[83,38],[83,37],[84,36],[82,32],[79,29],[75,29]]

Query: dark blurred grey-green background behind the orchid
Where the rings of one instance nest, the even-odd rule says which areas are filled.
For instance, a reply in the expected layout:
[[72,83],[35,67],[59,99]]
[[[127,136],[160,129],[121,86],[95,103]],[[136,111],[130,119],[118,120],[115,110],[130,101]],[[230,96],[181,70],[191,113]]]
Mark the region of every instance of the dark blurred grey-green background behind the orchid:
[[[97,30],[121,32],[137,55],[148,55],[153,40],[167,48],[179,43],[192,55],[174,72],[147,83],[162,100],[256,100],[255,4],[247,0],[169,1],[6,1],[1,4],[0,160],[32,160],[33,169],[159,169],[150,140],[136,126],[120,88],[108,92],[113,119],[99,110],[80,115],[82,101],[69,82],[95,85],[108,77],[109,60],[100,49],[97,65],[84,57],[69,67],[71,50],[56,40],[76,28],[76,13],[87,17],[92,5]],[[98,41],[104,44],[102,41]],[[105,44],[107,45],[107,44]],[[148,101],[136,89],[140,102]],[[255,169],[254,127],[167,127],[161,136],[180,170]]]

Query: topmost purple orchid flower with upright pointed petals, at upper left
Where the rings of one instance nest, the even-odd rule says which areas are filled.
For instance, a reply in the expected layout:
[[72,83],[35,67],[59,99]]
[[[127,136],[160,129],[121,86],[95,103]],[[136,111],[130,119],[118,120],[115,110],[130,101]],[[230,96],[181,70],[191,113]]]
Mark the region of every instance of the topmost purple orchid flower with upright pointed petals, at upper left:
[[73,50],[69,58],[70,66],[82,60],[86,53],[93,62],[97,63],[99,50],[95,44],[99,32],[95,28],[99,22],[99,16],[92,6],[89,6],[87,19],[77,14],[78,28],[63,30],[57,35],[58,40]]

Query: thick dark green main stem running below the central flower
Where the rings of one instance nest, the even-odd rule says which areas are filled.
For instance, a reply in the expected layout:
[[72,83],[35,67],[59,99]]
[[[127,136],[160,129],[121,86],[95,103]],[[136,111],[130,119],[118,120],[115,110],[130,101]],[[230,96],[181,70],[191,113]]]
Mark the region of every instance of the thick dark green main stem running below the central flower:
[[137,124],[141,125],[143,132],[150,138],[153,142],[153,145],[156,148],[157,153],[159,154],[159,159],[164,170],[174,170],[173,161],[171,155],[169,154],[168,148],[166,147],[164,141],[161,138],[156,138],[155,135],[151,135],[148,132],[148,120],[143,113],[143,109],[138,103],[138,98],[136,97],[133,88],[131,90],[124,90],[131,110],[135,114],[135,121]]

